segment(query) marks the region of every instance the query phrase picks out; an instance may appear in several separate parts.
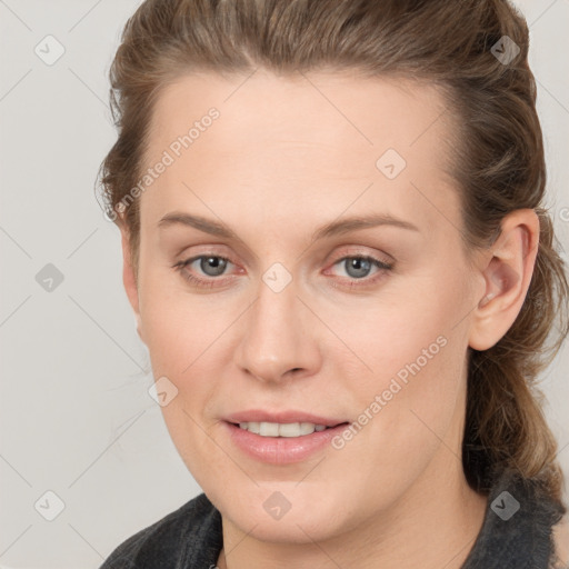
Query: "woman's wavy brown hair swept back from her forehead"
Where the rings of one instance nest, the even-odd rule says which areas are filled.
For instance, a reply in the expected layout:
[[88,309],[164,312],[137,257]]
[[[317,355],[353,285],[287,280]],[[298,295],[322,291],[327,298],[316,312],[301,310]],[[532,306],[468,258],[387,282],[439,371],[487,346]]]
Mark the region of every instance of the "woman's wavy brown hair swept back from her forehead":
[[[503,36],[520,50],[511,61],[498,58],[503,43],[495,51]],[[569,290],[542,203],[546,164],[528,44],[527,23],[507,0],[146,0],[127,22],[110,71],[119,137],[101,164],[102,186],[108,214],[130,233],[137,266],[139,200],[119,217],[116,210],[140,179],[152,106],[170,81],[193,70],[244,74],[262,66],[438,86],[456,119],[451,173],[465,242],[490,246],[516,209],[533,208],[540,220],[521,312],[496,346],[469,349],[465,472],[487,492],[512,469],[561,501],[557,443],[536,380],[569,331]]]

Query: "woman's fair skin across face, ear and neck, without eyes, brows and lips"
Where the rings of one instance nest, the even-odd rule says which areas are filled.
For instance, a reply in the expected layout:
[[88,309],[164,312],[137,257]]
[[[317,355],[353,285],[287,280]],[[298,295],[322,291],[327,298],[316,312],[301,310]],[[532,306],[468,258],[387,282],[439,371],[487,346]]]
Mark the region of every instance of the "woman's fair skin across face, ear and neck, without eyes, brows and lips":
[[[246,77],[197,73],[162,91],[148,166],[210,107],[220,118],[140,197],[138,276],[122,229],[139,335],[154,377],[178,389],[162,407],[167,427],[222,515],[218,566],[459,568],[487,507],[460,459],[467,350],[493,346],[519,313],[538,218],[510,213],[490,249],[467,254],[458,189],[445,173],[452,122],[428,84]],[[407,161],[392,180],[376,167],[389,148]],[[173,211],[221,221],[238,239],[159,228]],[[417,230],[311,240],[328,222],[372,212]],[[221,277],[199,260],[187,267],[211,288],[172,268],[198,254],[231,261]],[[357,254],[392,269],[371,266],[358,279],[341,261]],[[280,292],[262,280],[274,262],[292,278]],[[273,466],[226,436],[222,418],[253,408],[356,421],[439,337],[445,347],[341,450]],[[276,491],[291,505],[279,520],[263,509]]]

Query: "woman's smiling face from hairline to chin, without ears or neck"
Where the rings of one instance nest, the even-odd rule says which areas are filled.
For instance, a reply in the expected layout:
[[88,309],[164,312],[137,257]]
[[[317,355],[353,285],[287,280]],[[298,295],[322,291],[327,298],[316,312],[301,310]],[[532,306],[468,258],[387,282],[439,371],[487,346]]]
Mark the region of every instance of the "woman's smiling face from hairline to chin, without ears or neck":
[[172,440],[243,532],[333,538],[461,476],[485,284],[443,111],[426,84],[261,70],[158,100],[129,295]]

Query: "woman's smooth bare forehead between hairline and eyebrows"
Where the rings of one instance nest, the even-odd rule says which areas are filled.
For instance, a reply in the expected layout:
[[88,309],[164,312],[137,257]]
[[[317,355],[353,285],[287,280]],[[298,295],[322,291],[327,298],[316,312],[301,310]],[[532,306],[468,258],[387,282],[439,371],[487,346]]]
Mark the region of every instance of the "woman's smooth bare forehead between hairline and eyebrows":
[[169,166],[144,192],[142,217],[183,206],[207,212],[199,196],[214,212],[229,212],[232,199],[257,220],[312,211],[317,223],[317,212],[329,221],[357,200],[351,213],[380,206],[436,228],[441,214],[457,214],[445,110],[432,86],[402,79],[181,77],[153,109],[146,164],[168,154]]

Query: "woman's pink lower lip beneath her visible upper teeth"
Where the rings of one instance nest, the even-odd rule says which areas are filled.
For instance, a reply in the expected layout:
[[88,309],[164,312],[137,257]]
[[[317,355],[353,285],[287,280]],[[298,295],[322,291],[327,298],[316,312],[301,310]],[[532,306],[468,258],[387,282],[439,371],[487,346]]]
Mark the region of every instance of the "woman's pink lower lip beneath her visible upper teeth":
[[290,465],[308,459],[330,443],[348,423],[301,437],[261,437],[224,421],[231,441],[246,455],[270,465]]

